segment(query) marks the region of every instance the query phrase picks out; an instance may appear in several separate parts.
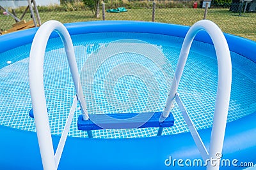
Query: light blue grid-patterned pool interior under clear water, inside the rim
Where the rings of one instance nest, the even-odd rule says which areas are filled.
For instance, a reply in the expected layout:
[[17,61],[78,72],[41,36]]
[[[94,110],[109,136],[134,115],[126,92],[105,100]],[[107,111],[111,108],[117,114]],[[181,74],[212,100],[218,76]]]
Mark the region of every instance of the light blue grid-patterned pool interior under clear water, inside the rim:
[[[171,66],[166,68],[167,71],[165,70],[168,77],[166,78],[163,69],[155,62],[138,54],[136,56],[134,53],[125,53],[125,56],[113,55],[108,60],[103,60],[100,65],[93,62],[93,60],[89,60],[93,53],[97,54],[99,48],[120,39],[140,39],[140,41],[150,43],[154,48],[161,51],[166,57],[166,64]],[[81,73],[82,83],[87,81],[86,78],[83,79],[84,75],[93,78],[89,86],[83,86],[89,114],[163,110],[168,89],[170,89],[170,79],[179,59],[182,38],[143,33],[97,33],[72,36],[72,41],[74,42],[77,66]],[[124,45],[128,45],[125,42]],[[30,46],[24,45],[0,53],[0,124],[26,131],[35,131],[35,122],[28,115],[31,109],[28,81]],[[144,50],[149,51],[150,48]],[[232,93],[228,122],[256,111],[256,64],[234,52],[231,52],[231,57],[233,67]],[[7,64],[7,61],[12,61],[12,64]],[[96,74],[90,71],[86,72],[86,69],[84,69],[86,63],[89,63],[89,67],[94,67],[93,64],[95,64]],[[112,68],[120,66],[120,64],[124,66],[123,72],[130,71],[131,73],[118,78],[113,77],[110,80],[116,81],[114,87],[110,87],[109,84],[111,83],[108,84],[104,80],[106,80]],[[141,76],[134,75],[132,68],[139,65],[146,68],[148,73],[143,74],[143,69],[141,69]],[[120,71],[122,69],[118,69],[116,74],[121,75]],[[116,74],[111,75],[115,76]],[[154,81],[150,81],[150,78],[154,78]],[[195,41],[178,92],[197,129],[205,129],[212,125],[217,80],[218,67],[213,46]],[[51,132],[60,135],[75,95],[72,76],[60,38],[51,39],[47,45],[44,82]],[[156,89],[150,90],[150,88],[156,86]],[[109,88],[113,88],[110,92],[115,95],[111,95],[108,90],[106,91]],[[150,94],[152,95],[150,96]],[[155,101],[157,102],[148,106],[151,97],[156,97]],[[77,108],[79,108],[78,105]],[[77,109],[69,136],[87,136],[86,132],[77,130],[76,124],[79,114],[81,114],[81,111]],[[188,127],[176,104],[173,108],[173,115],[175,125],[165,128],[163,134],[188,132]],[[114,129],[93,131],[93,136],[95,138],[138,138],[156,136],[156,133],[156,128]]]

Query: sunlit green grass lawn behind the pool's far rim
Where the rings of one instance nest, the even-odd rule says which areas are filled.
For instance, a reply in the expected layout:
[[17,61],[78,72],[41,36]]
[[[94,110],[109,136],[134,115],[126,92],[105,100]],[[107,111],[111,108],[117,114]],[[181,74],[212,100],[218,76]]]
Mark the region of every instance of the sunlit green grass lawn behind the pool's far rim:
[[[18,14],[18,17],[21,14]],[[47,20],[59,20],[60,22],[81,22],[90,20],[102,20],[93,17],[91,11],[40,11],[42,23]],[[169,8],[156,9],[156,22],[166,22],[180,25],[193,25],[196,21],[202,20],[204,17],[204,9],[193,8]],[[244,38],[256,41],[256,13],[242,13],[239,17],[238,13],[231,13],[228,9],[211,9],[207,13],[207,19],[215,22],[223,32],[242,36]],[[27,14],[27,21],[31,20]],[[106,20],[152,20],[152,9],[128,9],[125,13],[106,13]],[[8,29],[12,27],[15,21],[9,16],[0,15],[0,28]]]

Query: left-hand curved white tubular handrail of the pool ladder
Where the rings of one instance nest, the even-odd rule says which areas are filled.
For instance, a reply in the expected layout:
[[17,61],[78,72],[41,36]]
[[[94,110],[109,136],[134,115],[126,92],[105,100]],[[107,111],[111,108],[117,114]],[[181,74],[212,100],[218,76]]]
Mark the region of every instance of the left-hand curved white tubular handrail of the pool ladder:
[[66,27],[58,21],[50,20],[45,22],[36,32],[29,55],[29,89],[31,94],[32,108],[35,117],[36,134],[40,147],[44,169],[57,169],[58,161],[54,159],[52,146],[51,129],[47,114],[45,91],[44,91],[44,56],[47,41],[53,31],[60,35],[65,52],[67,53],[68,64],[74,81],[77,99],[83,112],[84,120],[88,119],[86,102],[83,98],[83,90],[79,81],[74,47]]

